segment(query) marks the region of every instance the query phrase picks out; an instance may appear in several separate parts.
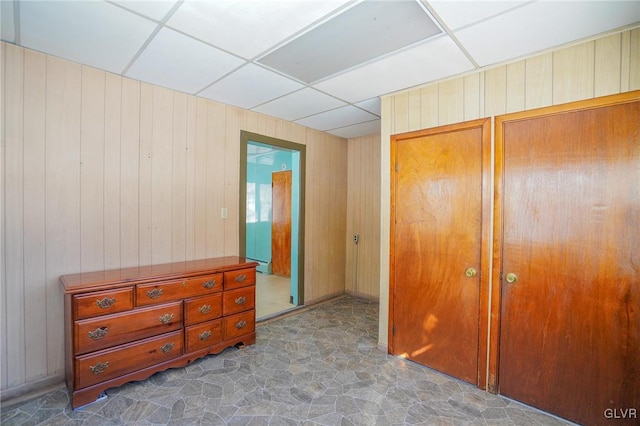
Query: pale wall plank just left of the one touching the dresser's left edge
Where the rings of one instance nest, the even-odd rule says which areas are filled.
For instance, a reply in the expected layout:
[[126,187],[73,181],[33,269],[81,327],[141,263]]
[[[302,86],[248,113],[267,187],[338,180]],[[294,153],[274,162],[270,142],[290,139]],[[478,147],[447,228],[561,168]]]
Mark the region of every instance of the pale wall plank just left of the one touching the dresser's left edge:
[[[24,51],[24,305],[46,306],[45,256],[45,94],[47,59]],[[6,311],[5,311],[6,312]],[[47,322],[45,309],[32,309],[25,316],[25,330],[41,330]],[[46,339],[30,339],[26,351],[26,380],[47,371]]]

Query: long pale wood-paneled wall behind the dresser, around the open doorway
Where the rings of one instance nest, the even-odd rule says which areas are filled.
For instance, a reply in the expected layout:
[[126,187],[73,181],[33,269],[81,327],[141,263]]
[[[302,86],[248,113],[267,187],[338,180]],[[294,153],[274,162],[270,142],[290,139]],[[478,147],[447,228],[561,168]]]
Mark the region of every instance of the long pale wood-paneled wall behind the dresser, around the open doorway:
[[241,130],[307,146],[305,302],[344,292],[345,139],[5,43],[0,55],[2,398],[63,379],[60,275],[238,254]]

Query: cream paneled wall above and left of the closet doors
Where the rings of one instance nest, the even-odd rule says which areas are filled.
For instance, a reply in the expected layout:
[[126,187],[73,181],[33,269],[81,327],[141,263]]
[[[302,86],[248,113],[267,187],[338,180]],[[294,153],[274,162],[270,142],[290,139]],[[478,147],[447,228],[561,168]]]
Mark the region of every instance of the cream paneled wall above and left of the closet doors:
[[389,323],[391,135],[638,89],[640,28],[635,28],[384,97],[379,345],[387,346]]

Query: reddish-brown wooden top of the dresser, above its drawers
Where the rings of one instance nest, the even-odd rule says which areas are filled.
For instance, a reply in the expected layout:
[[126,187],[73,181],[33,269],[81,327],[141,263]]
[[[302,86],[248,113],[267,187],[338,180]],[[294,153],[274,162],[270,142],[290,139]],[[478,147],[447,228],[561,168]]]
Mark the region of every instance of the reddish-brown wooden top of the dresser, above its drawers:
[[236,269],[251,268],[258,263],[238,256],[189,260],[159,265],[134,266],[105,271],[82,272],[60,277],[65,293],[124,287],[131,284],[170,280],[203,274],[214,274]]

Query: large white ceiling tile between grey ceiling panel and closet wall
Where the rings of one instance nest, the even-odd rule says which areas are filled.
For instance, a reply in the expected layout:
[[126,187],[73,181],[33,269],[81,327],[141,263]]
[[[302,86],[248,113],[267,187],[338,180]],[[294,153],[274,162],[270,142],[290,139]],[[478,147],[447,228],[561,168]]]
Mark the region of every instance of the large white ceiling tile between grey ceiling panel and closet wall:
[[348,102],[460,74],[473,65],[450,37],[439,37],[314,85]]

